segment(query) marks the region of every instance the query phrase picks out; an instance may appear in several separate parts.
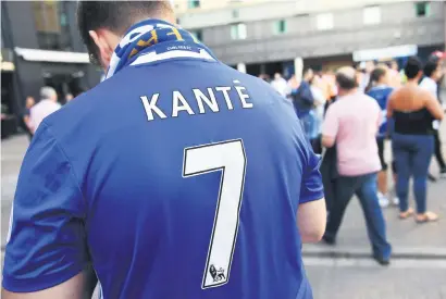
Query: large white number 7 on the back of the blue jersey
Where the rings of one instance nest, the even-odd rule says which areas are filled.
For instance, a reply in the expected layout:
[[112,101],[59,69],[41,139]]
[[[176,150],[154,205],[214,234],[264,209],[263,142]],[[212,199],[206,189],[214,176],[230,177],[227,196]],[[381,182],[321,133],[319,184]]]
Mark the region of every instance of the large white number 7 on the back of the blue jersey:
[[221,171],[222,176],[202,289],[224,285],[230,279],[245,185],[246,154],[241,139],[184,150],[183,177],[215,171]]

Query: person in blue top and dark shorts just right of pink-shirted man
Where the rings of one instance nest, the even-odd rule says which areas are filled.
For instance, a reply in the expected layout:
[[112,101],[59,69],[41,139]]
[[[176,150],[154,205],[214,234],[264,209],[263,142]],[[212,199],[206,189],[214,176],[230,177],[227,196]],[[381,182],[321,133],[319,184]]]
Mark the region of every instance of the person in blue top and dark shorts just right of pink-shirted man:
[[[381,108],[382,123],[376,135],[377,153],[381,161],[381,171],[377,173],[377,198],[382,208],[388,207],[391,200],[388,199],[388,186],[387,186],[387,163],[385,161],[385,140],[389,136],[389,121],[387,120],[387,102],[388,98],[394,90],[389,87],[389,80],[392,76],[389,68],[386,65],[377,65],[370,75],[369,87],[367,88],[367,95],[376,100]],[[393,164],[393,173],[395,177],[395,163]],[[393,197],[392,203],[398,204],[398,198]]]

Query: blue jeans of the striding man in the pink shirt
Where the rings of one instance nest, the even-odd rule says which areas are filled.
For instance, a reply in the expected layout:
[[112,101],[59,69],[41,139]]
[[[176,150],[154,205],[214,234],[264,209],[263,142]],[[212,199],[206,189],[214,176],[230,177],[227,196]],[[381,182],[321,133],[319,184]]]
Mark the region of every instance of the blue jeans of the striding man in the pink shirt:
[[329,213],[324,238],[334,241],[350,198],[356,194],[366,217],[367,232],[376,258],[391,258],[392,247],[386,239],[383,212],[377,202],[376,174],[339,176],[335,184],[335,197]]

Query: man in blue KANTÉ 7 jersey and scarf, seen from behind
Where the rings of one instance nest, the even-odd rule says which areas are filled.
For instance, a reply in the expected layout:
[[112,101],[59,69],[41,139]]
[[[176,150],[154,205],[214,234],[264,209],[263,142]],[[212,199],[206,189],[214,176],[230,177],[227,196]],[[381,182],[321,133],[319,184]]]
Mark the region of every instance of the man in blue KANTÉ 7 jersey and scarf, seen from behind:
[[79,3],[107,78],[33,139],[3,299],[83,298],[90,264],[103,298],[312,298],[319,158],[285,99],[174,20],[169,2]]

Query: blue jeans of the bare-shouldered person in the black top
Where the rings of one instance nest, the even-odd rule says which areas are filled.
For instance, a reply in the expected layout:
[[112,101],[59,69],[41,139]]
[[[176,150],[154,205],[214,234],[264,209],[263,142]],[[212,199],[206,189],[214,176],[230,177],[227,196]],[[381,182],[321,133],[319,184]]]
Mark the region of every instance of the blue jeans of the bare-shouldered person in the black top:
[[394,133],[392,149],[398,175],[396,191],[399,198],[399,211],[406,212],[409,209],[409,179],[413,176],[417,213],[422,214],[426,211],[428,171],[434,152],[434,137]]

